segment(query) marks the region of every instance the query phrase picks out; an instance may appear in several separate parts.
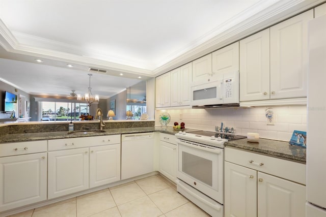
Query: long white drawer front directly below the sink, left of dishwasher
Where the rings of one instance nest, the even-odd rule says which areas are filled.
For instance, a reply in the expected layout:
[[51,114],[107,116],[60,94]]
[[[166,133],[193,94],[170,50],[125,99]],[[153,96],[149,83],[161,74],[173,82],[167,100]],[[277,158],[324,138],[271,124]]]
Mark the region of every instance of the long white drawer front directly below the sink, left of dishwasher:
[[48,140],[48,150],[64,150],[71,148],[82,148],[97,145],[120,144],[120,134],[110,136],[78,137],[71,139]]

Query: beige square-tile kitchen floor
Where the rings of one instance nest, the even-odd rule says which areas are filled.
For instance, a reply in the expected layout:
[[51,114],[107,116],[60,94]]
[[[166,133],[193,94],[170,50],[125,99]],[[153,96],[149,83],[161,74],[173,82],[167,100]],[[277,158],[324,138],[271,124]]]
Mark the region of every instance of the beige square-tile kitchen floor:
[[177,193],[176,186],[158,174],[12,216],[200,217],[209,215]]

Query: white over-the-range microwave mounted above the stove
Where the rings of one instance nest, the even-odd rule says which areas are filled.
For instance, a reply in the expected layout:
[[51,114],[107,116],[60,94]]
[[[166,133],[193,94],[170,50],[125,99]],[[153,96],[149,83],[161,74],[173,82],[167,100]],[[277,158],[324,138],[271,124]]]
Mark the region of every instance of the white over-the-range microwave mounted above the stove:
[[225,73],[205,82],[193,82],[190,105],[206,108],[239,106],[239,72]]

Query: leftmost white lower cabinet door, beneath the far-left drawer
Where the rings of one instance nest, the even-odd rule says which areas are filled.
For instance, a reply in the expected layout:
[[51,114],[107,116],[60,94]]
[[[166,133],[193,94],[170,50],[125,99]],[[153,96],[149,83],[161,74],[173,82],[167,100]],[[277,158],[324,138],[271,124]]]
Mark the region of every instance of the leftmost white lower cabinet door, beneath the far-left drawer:
[[0,212],[46,200],[46,152],[0,158]]

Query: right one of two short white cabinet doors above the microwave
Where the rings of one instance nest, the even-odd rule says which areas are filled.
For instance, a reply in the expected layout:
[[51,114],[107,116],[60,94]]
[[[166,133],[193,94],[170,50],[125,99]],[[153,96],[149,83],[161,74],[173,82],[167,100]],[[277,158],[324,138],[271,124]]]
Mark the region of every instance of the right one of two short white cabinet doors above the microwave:
[[212,53],[212,75],[221,75],[239,71],[239,42],[235,42]]

